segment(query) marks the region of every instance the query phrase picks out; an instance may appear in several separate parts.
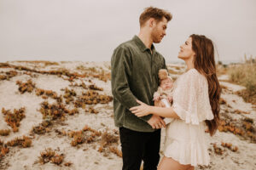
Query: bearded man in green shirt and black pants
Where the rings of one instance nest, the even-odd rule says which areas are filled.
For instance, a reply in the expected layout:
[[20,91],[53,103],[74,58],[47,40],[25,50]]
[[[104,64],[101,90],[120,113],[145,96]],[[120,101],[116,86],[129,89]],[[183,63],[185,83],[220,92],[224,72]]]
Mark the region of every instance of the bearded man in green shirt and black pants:
[[153,45],[166,36],[172,14],[160,8],[145,8],[140,15],[140,32],[115,48],[111,59],[111,85],[115,126],[119,127],[123,152],[123,170],[157,169],[160,160],[160,116],[138,118],[129,111],[138,105],[136,99],[154,105],[158,88],[158,71],[166,61]]

